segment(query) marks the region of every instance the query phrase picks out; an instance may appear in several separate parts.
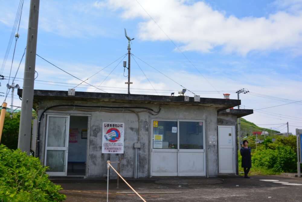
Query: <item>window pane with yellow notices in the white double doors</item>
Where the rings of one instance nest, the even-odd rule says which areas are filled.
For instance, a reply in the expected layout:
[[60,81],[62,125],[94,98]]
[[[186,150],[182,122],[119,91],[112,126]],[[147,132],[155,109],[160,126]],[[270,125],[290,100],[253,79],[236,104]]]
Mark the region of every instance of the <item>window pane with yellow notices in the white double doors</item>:
[[153,121],[153,148],[178,148],[177,121]]

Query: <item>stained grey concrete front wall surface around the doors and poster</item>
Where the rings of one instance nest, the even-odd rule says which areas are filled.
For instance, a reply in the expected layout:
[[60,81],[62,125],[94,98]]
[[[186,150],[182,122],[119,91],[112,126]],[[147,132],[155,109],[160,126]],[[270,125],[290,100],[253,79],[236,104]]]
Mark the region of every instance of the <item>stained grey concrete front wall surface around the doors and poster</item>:
[[[70,104],[64,101],[43,101],[40,106],[50,107],[56,104]],[[73,104],[85,106],[114,106],[114,107],[148,107],[154,110],[159,109],[157,104],[121,104],[104,102],[79,102]],[[134,109],[141,111],[140,109]],[[38,111],[39,118],[42,109]],[[122,110],[121,110],[122,111]],[[138,118],[134,113],[108,113],[102,111],[55,111],[48,110],[47,113],[55,114],[86,114],[91,115],[88,125],[88,170],[87,177],[105,177],[107,176],[106,161],[116,161],[122,157],[120,164],[120,173],[124,177],[133,177],[134,173],[134,147],[133,144],[138,141]],[[154,113],[154,112],[153,112]],[[193,119],[205,120],[205,151],[207,156],[207,176],[218,175],[218,148],[217,148],[217,110],[214,107],[186,106],[186,105],[161,105],[161,111],[157,115],[151,115],[146,112],[139,113],[140,116],[140,154],[139,154],[139,177],[148,177],[150,170],[150,151],[151,151],[151,119]],[[46,134],[46,116],[41,120],[40,127],[40,152],[39,156],[44,162],[45,134]],[[102,154],[102,123],[120,122],[125,124],[124,129],[124,154]],[[116,165],[116,164],[115,164]],[[117,167],[117,166],[115,166]],[[114,178],[114,174],[110,174]]]

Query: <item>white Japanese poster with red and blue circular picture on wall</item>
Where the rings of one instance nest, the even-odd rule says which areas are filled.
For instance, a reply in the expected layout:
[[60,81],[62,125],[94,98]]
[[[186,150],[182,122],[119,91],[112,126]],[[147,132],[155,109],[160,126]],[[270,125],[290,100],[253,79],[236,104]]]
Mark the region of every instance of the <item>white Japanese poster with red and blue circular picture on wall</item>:
[[124,154],[124,123],[103,123],[103,154]]

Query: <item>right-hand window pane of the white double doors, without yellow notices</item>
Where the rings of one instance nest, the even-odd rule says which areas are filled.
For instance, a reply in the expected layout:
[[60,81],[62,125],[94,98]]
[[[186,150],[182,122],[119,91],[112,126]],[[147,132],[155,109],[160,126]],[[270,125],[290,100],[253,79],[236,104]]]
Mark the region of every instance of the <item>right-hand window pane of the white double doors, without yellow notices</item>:
[[204,149],[203,122],[179,121],[179,149]]

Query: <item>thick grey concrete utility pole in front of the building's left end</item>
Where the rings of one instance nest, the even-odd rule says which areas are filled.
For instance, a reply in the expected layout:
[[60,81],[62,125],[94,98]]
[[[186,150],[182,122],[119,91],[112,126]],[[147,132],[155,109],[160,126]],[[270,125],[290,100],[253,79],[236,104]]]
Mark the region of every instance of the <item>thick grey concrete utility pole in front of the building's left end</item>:
[[30,154],[31,147],[31,117],[34,99],[34,75],[36,66],[38,18],[40,0],[31,0],[28,32],[27,51],[25,56],[24,80],[22,91],[21,116],[19,127],[18,148]]

